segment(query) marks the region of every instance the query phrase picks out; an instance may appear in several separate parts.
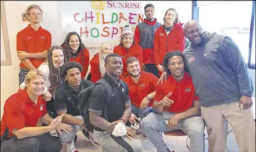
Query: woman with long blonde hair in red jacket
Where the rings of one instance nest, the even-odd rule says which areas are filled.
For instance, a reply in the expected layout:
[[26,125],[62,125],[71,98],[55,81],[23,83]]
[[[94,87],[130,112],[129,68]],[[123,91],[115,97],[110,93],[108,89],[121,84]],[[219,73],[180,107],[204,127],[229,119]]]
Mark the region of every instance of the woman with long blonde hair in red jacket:
[[113,47],[108,42],[103,42],[100,44],[99,53],[95,54],[94,57],[90,61],[91,65],[91,79],[93,83],[100,80],[106,72],[105,69],[105,57],[113,53]]

